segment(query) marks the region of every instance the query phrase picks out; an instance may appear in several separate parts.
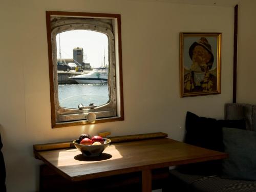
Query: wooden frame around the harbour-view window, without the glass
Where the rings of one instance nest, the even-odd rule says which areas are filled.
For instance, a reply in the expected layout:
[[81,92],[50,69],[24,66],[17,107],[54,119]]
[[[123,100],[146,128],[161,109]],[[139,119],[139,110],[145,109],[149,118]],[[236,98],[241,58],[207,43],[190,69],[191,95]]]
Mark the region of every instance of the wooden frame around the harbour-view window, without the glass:
[[[87,110],[71,110],[62,108],[60,110],[60,106],[58,103],[58,89],[57,89],[57,71],[56,65],[54,65],[54,61],[56,58],[53,52],[56,51],[53,45],[55,45],[53,40],[56,38],[52,37],[52,28],[51,28],[51,17],[67,17],[67,18],[96,18],[96,19],[111,19],[113,25],[113,34],[114,38],[112,39],[114,44],[113,51],[113,62],[110,65],[114,66],[112,71],[112,78],[114,76],[114,80],[111,80],[109,86],[111,89],[114,88],[114,96],[111,93],[111,97],[113,96],[116,102],[114,112],[111,117],[101,117],[101,111],[106,110],[106,106],[103,106],[102,109],[87,109]],[[122,87],[122,51],[121,51],[121,16],[120,14],[105,14],[105,13],[81,13],[81,12],[62,12],[62,11],[46,11],[46,24],[47,24],[47,40],[48,40],[48,59],[49,59],[49,78],[50,78],[50,100],[51,100],[51,123],[52,128],[57,127],[65,127],[65,126],[75,126],[75,125],[86,125],[91,124],[86,120],[86,115],[89,112],[98,113],[98,117],[93,123],[103,123],[103,122],[111,122],[111,121],[121,121],[124,120],[124,110],[123,110],[123,87]],[[97,31],[97,30],[96,30]],[[109,36],[108,36],[109,37]],[[111,66],[112,67],[112,66]],[[108,104],[106,104],[108,105]],[[102,107],[102,106],[101,106]],[[84,115],[84,119],[74,120],[73,117]],[[66,118],[66,117],[67,118]],[[65,119],[64,121],[62,119]]]

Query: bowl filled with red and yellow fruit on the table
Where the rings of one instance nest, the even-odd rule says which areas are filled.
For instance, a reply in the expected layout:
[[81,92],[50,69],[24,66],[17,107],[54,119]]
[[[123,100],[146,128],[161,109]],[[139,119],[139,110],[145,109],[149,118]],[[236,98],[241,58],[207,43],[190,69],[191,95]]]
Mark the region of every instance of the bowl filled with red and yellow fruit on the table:
[[83,156],[96,157],[100,156],[105,148],[110,145],[111,140],[97,135],[91,137],[90,135],[82,134],[79,139],[74,140],[73,143]]

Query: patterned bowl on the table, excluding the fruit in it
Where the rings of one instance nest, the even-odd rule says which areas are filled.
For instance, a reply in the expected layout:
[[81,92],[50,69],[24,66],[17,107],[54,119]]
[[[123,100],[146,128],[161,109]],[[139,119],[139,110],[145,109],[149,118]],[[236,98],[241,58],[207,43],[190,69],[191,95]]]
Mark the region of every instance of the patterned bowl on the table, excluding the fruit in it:
[[105,150],[107,146],[110,145],[111,140],[103,138],[104,143],[100,145],[82,145],[78,143],[78,139],[74,140],[73,143],[80,152],[82,152],[83,156],[86,157],[96,157],[100,156],[102,152]]

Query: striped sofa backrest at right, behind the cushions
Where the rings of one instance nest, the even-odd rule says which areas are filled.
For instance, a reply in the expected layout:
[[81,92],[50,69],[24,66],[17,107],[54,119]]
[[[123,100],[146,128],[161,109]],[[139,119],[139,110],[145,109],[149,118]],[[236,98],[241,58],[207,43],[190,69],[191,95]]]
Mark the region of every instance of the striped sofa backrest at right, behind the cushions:
[[225,119],[245,119],[246,130],[256,131],[256,105],[245,103],[226,103]]

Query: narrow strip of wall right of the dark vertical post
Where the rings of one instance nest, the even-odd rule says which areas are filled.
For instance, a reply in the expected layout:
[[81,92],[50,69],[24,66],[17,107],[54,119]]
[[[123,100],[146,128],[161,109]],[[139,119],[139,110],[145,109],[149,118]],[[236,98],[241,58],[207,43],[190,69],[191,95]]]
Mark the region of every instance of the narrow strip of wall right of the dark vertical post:
[[256,1],[243,0],[238,8],[237,102],[256,103]]

